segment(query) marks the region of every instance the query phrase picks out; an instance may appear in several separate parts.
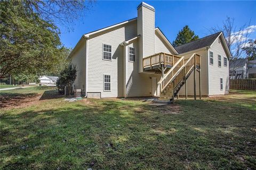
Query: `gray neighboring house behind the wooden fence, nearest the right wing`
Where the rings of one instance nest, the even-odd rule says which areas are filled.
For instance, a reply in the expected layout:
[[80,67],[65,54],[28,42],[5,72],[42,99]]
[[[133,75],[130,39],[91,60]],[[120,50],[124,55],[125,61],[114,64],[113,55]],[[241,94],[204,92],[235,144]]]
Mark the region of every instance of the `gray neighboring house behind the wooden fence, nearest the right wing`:
[[247,58],[237,59],[229,63],[229,79],[248,79],[249,67]]

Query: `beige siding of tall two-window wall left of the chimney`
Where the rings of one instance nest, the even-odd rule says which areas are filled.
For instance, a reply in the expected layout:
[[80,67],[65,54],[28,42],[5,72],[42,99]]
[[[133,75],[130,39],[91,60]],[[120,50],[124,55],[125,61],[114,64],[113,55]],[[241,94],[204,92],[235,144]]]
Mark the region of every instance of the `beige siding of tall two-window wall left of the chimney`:
[[[90,38],[88,44],[88,92],[101,92],[101,97],[124,96],[124,40],[137,36],[137,21],[129,22]],[[111,45],[112,60],[102,60],[103,44]],[[111,90],[103,90],[103,75],[111,76]]]

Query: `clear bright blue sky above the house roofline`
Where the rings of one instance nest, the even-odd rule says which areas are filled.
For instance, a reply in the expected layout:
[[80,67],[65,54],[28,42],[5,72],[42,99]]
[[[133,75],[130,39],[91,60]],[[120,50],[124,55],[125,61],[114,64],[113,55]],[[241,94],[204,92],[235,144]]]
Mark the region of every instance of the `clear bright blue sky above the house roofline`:
[[[75,21],[73,31],[60,26],[61,42],[73,48],[84,33],[137,17],[141,1],[97,1],[84,18]],[[222,25],[226,16],[235,25],[255,25],[251,38],[256,38],[256,1],[144,1],[155,7],[156,27],[172,42],[185,25],[200,37],[209,35],[209,28]]]

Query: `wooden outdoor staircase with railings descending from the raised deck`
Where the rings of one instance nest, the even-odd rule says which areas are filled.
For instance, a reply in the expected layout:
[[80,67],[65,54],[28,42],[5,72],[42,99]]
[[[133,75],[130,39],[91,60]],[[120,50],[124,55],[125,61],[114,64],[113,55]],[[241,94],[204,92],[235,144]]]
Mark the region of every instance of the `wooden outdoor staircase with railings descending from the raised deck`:
[[[201,55],[194,53],[189,58],[181,57],[172,68],[164,74],[162,79],[158,82],[161,94],[159,100],[167,100],[174,103],[174,98],[178,96],[181,87],[187,82],[191,73],[196,70],[200,72],[201,69]],[[194,72],[194,83],[195,83]],[[200,74],[201,75],[201,74]],[[201,82],[201,76],[199,76]],[[195,86],[195,84],[194,84]],[[199,83],[201,89],[201,83]],[[194,87],[194,90],[195,87]],[[195,93],[195,91],[194,91]],[[187,88],[186,88],[187,94]],[[187,96],[187,95],[186,95]],[[201,96],[201,92],[200,92]]]

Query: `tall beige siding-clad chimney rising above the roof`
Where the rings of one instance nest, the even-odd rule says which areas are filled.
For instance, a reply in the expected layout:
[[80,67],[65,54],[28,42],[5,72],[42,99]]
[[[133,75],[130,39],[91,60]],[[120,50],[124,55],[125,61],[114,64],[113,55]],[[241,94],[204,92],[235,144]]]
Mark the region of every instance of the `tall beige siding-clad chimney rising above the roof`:
[[142,58],[155,54],[155,8],[142,2],[137,11],[137,32],[140,35],[139,72],[143,72]]

